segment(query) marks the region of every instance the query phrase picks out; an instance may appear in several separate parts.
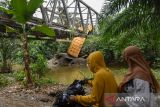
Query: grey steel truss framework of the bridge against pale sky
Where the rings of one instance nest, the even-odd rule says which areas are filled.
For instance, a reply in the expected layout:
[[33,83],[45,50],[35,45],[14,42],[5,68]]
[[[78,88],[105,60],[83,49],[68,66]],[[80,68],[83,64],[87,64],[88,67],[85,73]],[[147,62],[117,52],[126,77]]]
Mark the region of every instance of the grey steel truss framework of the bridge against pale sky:
[[46,24],[57,38],[67,38],[73,32],[75,36],[97,32],[98,19],[98,12],[82,0],[45,0],[28,24]]

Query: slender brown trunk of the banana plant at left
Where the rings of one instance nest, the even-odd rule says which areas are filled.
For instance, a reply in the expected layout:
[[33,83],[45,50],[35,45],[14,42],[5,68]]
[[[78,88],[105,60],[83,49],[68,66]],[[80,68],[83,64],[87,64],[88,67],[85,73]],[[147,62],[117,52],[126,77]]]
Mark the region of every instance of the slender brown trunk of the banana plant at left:
[[24,60],[24,70],[26,72],[26,79],[27,84],[33,84],[31,74],[30,74],[30,57],[29,57],[29,50],[28,50],[28,38],[27,34],[25,32],[25,26],[23,28],[24,32],[22,35],[22,42],[23,42],[23,60]]

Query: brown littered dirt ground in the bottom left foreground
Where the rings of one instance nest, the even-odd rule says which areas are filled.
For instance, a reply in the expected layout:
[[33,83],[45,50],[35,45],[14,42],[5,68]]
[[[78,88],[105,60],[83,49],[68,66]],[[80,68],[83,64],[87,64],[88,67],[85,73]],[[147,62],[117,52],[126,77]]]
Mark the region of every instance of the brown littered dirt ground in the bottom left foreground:
[[57,84],[27,89],[15,83],[0,90],[0,107],[52,107],[53,96],[66,87]]

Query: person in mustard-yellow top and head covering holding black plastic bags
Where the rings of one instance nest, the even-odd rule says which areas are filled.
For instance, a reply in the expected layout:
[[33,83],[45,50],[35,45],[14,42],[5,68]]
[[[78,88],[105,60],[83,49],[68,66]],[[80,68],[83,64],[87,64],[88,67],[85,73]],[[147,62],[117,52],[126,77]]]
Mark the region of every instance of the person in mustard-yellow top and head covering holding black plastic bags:
[[106,67],[104,56],[100,51],[95,51],[88,56],[87,66],[94,73],[94,79],[88,81],[92,86],[92,92],[86,96],[70,96],[70,100],[84,106],[104,107],[104,94],[118,92],[114,75]]

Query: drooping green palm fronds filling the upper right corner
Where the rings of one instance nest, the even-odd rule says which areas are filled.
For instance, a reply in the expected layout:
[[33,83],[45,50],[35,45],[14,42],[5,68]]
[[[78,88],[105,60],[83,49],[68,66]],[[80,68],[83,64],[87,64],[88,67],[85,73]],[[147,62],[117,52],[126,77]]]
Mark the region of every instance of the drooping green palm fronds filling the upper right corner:
[[160,0],[106,0],[100,22],[104,39],[121,48],[138,44],[148,56],[160,53]]

